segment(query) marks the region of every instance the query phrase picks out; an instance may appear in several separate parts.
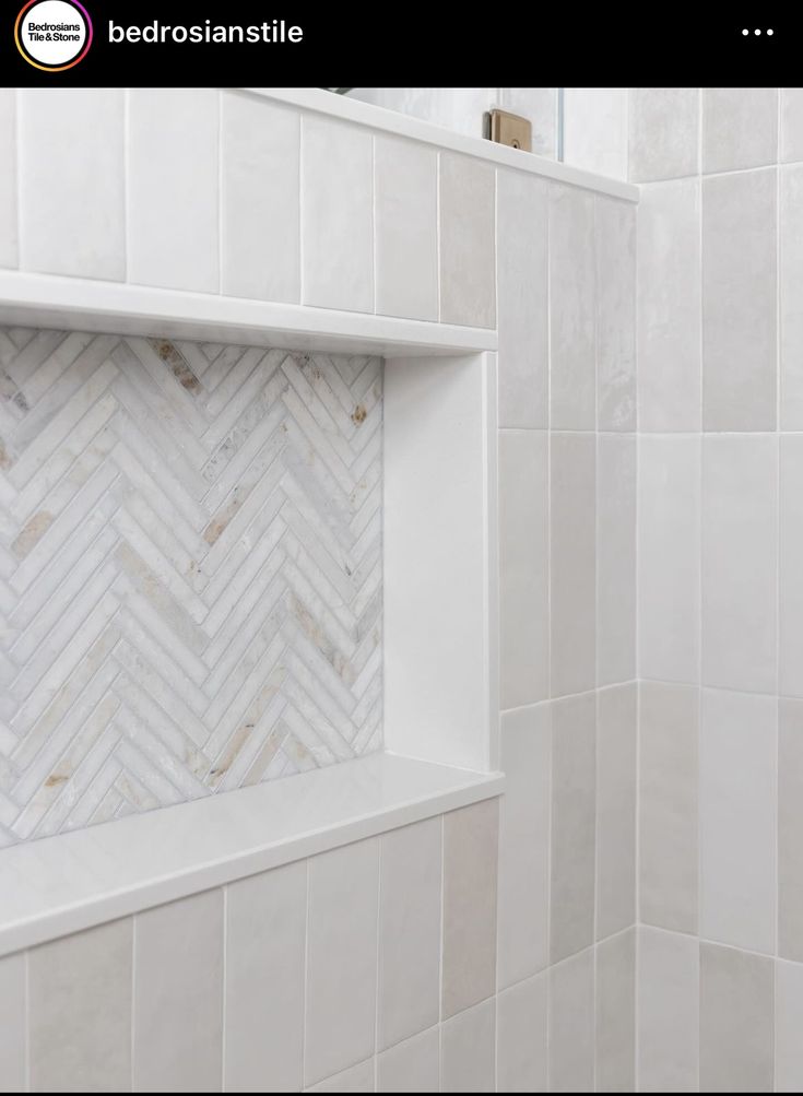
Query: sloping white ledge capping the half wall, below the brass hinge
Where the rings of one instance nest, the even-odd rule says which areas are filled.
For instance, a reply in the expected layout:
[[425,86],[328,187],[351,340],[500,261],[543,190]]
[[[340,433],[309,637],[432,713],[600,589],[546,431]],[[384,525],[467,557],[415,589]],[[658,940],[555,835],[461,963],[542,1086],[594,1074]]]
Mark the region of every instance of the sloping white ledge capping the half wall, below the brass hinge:
[[532,152],[521,152],[515,148],[494,145],[480,137],[452,133],[451,129],[433,125],[431,122],[422,122],[420,118],[413,118],[406,114],[397,114],[394,111],[375,106],[372,103],[345,99],[343,95],[335,95],[319,88],[239,88],[236,90],[271,99],[274,102],[286,103],[303,111],[328,114],[343,122],[352,122],[383,133],[397,134],[400,137],[423,141],[426,145],[436,145],[438,148],[451,152],[462,152],[464,156],[487,160],[504,168],[515,168],[529,174],[541,175],[543,179],[553,179],[555,182],[566,183],[570,186],[581,186],[584,190],[594,191],[595,194],[606,194],[634,204],[639,202],[639,187],[634,183],[608,179],[606,175],[584,171],[582,168],[573,168],[567,163],[547,160]]

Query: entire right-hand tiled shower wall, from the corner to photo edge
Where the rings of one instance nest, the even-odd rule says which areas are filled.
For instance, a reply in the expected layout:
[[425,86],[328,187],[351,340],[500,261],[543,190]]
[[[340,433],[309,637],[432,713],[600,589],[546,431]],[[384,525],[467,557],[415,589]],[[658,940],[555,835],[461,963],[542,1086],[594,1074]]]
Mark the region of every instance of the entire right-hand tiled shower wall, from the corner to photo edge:
[[644,1091],[803,1087],[803,93],[631,89]]

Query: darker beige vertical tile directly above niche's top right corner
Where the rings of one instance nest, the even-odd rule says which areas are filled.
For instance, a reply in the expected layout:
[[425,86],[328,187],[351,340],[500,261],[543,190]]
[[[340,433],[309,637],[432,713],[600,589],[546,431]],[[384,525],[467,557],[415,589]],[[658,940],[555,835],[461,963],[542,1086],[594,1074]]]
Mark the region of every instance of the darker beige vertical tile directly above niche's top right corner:
[[440,153],[440,319],[496,326],[495,171]]

